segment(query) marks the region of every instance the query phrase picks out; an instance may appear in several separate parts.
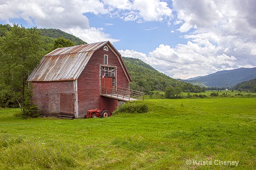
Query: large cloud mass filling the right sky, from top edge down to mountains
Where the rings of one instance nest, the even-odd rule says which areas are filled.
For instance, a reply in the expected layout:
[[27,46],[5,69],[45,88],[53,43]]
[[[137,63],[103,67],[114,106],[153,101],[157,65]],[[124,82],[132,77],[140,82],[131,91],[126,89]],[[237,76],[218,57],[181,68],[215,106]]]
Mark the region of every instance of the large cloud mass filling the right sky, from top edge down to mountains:
[[[147,55],[120,51],[173,78],[190,78],[256,65],[256,5],[253,0],[173,0],[174,25],[186,44],[161,44]],[[254,18],[254,19],[253,19]],[[174,31],[172,31],[174,32]]]

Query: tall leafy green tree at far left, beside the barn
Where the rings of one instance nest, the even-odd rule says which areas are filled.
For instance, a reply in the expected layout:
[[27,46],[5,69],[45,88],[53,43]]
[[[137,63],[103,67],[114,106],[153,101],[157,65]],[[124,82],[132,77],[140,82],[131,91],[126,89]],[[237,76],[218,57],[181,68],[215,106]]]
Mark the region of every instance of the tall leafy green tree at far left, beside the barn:
[[6,36],[0,39],[0,81],[1,85],[11,91],[20,111],[24,112],[25,90],[29,88],[26,79],[44,55],[41,35],[33,27],[26,29],[14,24]]

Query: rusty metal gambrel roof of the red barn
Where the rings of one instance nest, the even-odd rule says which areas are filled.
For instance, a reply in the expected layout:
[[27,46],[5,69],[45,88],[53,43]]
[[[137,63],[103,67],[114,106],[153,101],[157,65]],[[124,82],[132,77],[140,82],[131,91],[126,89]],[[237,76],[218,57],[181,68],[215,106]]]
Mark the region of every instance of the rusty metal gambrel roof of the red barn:
[[127,79],[132,81],[121,54],[119,54],[109,41],[57,48],[41,59],[40,64],[30,74],[27,81],[43,82],[76,80],[86,67],[94,51],[105,45],[107,45],[116,55]]

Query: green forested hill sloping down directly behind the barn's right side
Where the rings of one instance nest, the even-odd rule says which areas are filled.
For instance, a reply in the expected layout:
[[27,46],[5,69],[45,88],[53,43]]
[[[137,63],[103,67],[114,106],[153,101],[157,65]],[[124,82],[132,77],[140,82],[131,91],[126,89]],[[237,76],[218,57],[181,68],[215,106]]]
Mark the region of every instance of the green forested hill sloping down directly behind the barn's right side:
[[164,91],[166,87],[181,88],[184,92],[201,92],[202,88],[188,82],[181,82],[160,73],[150,65],[131,57],[122,57],[131,75],[130,88],[149,94],[151,91]]

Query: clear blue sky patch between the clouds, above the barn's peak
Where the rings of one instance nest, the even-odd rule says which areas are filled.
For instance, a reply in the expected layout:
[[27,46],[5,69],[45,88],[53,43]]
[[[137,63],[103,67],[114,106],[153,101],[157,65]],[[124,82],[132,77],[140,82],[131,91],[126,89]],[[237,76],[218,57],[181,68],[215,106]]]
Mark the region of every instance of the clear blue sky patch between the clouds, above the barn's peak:
[[87,14],[86,16],[90,21],[90,26],[104,28],[104,32],[119,40],[114,43],[118,50],[129,49],[147,54],[160,44],[174,47],[177,43],[187,42],[186,39],[180,38],[181,33],[172,33],[172,27],[167,26],[166,23],[136,23],[94,14]]

